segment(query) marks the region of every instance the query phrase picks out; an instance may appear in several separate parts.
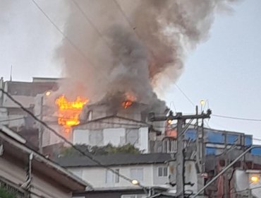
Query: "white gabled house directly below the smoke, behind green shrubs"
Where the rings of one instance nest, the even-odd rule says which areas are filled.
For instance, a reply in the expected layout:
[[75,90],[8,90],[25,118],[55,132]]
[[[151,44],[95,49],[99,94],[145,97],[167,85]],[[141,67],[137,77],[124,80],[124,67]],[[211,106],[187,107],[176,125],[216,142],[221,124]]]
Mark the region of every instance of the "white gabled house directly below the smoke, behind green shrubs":
[[149,125],[119,116],[104,117],[79,124],[73,129],[73,144],[90,146],[122,146],[133,144],[144,153],[149,152]]

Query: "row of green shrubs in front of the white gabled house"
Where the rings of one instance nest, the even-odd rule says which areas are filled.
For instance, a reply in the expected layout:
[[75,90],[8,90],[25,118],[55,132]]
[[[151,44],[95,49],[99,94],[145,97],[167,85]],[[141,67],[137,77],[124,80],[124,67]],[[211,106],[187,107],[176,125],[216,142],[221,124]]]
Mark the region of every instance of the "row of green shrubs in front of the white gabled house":
[[[107,146],[88,146],[85,144],[75,145],[80,151],[86,154],[92,155],[109,155],[114,153],[131,153],[138,154],[142,153],[138,148],[135,148],[132,144],[126,144],[123,146],[112,146],[111,144],[107,144]],[[76,151],[74,148],[65,148],[61,151],[62,156],[83,156],[83,154]]]

